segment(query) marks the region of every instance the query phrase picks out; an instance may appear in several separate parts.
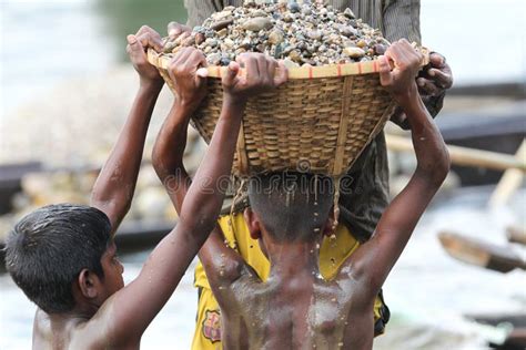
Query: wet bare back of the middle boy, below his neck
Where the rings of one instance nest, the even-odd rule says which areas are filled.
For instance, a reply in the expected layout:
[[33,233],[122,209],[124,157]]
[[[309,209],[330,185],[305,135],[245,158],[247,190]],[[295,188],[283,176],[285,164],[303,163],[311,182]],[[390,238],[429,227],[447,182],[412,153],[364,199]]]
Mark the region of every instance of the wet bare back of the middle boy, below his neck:
[[246,269],[220,287],[224,349],[372,348],[374,296],[363,298],[351,278],[263,282]]

